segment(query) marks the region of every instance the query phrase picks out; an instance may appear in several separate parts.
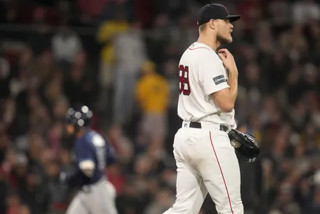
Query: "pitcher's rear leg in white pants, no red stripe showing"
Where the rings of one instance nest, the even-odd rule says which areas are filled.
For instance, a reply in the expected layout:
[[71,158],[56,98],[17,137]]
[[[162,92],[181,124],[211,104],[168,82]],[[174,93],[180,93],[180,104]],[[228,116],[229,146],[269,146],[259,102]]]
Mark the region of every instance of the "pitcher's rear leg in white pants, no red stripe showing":
[[[181,133],[180,133],[181,134]],[[207,196],[202,178],[195,173],[185,155],[186,136],[175,135],[174,155],[177,163],[177,195],[175,204],[163,214],[198,214]],[[186,146],[185,148],[182,148]]]

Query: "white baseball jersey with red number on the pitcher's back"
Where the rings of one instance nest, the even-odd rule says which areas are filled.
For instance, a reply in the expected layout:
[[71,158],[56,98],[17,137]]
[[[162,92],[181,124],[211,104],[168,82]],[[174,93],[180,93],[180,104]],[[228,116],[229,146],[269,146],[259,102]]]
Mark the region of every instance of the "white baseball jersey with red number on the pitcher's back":
[[227,70],[214,49],[193,43],[179,61],[178,115],[184,121],[207,121],[230,124],[237,128],[232,112],[221,112],[211,93],[229,88]]

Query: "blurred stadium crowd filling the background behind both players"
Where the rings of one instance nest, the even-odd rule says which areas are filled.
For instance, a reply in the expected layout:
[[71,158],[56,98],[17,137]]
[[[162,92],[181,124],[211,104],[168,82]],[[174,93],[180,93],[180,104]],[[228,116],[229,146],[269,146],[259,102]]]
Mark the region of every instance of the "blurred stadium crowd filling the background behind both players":
[[[246,214],[320,213],[320,1],[225,0],[239,69],[236,119],[262,153],[241,164]],[[0,213],[63,213],[74,167],[70,105],[115,146],[120,214],[175,200],[177,66],[201,0],[0,1]],[[214,213],[207,197],[200,214]]]

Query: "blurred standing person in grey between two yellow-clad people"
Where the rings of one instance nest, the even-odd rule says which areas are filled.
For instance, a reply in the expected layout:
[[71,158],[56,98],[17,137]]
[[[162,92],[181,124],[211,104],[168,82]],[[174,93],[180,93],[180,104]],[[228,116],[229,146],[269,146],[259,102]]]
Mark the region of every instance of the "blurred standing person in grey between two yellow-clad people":
[[[131,24],[127,33],[115,38],[115,100],[113,121],[123,124],[129,121],[134,110],[134,89],[142,63],[146,60],[145,44],[141,34],[141,22]],[[123,105],[125,103],[125,105]]]

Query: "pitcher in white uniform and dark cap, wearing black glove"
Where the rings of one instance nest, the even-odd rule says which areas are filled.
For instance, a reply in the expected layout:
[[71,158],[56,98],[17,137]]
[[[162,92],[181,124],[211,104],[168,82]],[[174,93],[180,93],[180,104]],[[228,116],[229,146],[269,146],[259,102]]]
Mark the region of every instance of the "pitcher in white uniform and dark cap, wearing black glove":
[[219,214],[243,213],[237,155],[247,161],[259,148],[253,136],[235,130],[238,70],[227,49],[217,51],[232,42],[232,22],[239,19],[221,4],[201,8],[198,41],[179,61],[177,112],[183,123],[173,144],[177,199],[165,214],[198,214],[208,192]]

